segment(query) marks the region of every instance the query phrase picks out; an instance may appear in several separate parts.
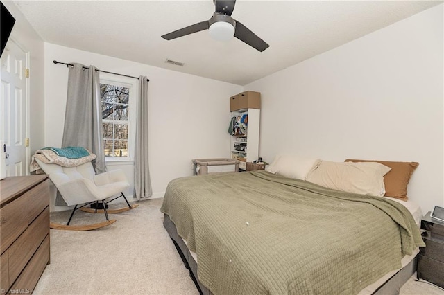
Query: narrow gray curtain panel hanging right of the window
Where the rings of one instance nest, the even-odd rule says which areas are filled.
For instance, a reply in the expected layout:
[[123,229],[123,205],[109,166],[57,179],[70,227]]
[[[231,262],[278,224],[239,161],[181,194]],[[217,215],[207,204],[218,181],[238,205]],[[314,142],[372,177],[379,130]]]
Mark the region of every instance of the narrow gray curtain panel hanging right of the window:
[[137,200],[153,195],[148,167],[148,79],[139,77],[139,97],[137,108],[134,179]]

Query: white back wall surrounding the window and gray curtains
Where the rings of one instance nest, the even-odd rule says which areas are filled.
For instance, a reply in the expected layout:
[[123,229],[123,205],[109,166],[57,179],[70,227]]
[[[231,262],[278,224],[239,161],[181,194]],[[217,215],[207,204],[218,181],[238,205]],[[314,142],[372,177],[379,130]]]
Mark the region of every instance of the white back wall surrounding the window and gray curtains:
[[[163,197],[171,179],[192,175],[191,159],[229,157],[229,98],[241,92],[241,86],[56,44],[45,43],[44,54],[44,145],[60,147],[62,143],[68,69],[67,66],[53,64],[53,60],[57,60],[92,64],[104,71],[136,77],[148,76],[149,162],[153,197]],[[108,168],[123,168],[133,182],[133,163],[110,163]],[[133,190],[130,189],[129,193],[133,195]]]

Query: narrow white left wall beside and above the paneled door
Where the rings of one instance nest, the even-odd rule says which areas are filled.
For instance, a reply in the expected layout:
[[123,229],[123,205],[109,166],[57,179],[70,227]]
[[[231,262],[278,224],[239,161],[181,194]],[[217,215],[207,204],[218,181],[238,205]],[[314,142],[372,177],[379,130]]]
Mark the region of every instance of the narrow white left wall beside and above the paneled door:
[[44,144],[44,42],[12,2],[2,1],[2,3],[15,18],[10,38],[14,39],[31,57],[29,138],[30,152],[34,154]]

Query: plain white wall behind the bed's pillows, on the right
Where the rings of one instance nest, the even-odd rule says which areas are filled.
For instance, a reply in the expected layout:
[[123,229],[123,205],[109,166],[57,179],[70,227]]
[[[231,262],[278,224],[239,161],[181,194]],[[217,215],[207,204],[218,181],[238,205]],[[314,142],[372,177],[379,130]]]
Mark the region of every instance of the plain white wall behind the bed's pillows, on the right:
[[409,197],[424,213],[443,206],[443,10],[246,85],[262,93],[261,157],[418,161]]

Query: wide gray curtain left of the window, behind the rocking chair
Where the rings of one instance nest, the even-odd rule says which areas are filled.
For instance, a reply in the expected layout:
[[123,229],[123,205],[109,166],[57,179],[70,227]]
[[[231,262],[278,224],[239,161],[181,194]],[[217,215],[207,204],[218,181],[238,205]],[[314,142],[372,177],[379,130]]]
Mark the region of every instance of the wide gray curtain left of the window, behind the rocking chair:
[[99,71],[83,64],[69,66],[62,147],[80,146],[96,154],[96,173],[105,172]]

